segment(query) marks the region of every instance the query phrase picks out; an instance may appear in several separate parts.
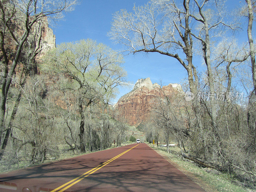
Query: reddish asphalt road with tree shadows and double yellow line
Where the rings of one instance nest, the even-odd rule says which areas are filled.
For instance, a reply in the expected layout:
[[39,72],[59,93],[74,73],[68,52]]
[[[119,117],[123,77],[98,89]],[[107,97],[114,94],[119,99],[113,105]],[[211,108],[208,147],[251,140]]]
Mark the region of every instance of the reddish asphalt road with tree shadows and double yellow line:
[[0,181],[1,192],[205,192],[145,143],[4,173]]

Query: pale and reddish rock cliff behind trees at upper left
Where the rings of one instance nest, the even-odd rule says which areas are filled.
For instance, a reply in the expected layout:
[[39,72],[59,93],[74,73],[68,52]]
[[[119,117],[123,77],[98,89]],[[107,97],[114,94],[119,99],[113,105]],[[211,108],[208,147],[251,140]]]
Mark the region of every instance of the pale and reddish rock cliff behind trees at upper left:
[[[25,26],[22,23],[16,23],[15,25],[13,25],[13,28],[15,29],[15,36],[17,39],[19,39],[24,30],[25,30]],[[41,42],[39,44],[39,39],[41,37]],[[20,62],[18,63],[18,65],[15,68],[15,76],[13,78],[17,78],[18,76],[20,76],[21,71],[23,69],[23,61],[26,61],[28,58],[28,55],[31,54],[35,48],[38,47],[39,45],[39,49],[38,49],[38,54],[36,55],[36,58],[34,58],[32,60],[33,62],[33,66],[30,68],[30,71],[32,71],[32,73],[34,74],[39,74],[39,70],[37,67],[37,64],[41,61],[41,58],[45,55],[45,53],[51,49],[56,47],[55,44],[55,35],[53,34],[53,30],[49,27],[48,25],[48,20],[47,17],[43,17],[41,20],[37,21],[33,27],[31,28],[31,33],[28,36],[27,41],[24,43],[23,46],[23,51],[20,54]],[[14,60],[14,56],[15,56],[15,52],[17,50],[17,43],[14,41],[14,39],[11,37],[10,34],[7,33],[7,35],[5,36],[5,51],[7,51],[7,55],[10,56],[9,59],[9,68],[12,65],[12,61]],[[31,49],[32,48],[32,49]],[[2,61],[3,58],[3,52],[0,51],[0,60]],[[2,75],[3,72],[3,66],[0,67],[0,73]],[[16,79],[16,82],[18,82],[19,80]]]

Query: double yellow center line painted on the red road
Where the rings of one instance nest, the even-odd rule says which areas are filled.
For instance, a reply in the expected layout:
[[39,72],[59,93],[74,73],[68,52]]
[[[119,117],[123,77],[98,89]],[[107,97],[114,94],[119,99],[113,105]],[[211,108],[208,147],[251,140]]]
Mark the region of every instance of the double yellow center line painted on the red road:
[[[139,144],[138,144],[138,145],[139,145]],[[106,161],[106,162],[104,162],[104,163],[98,165],[97,167],[94,167],[94,168],[91,169],[90,171],[85,172],[84,174],[82,174],[82,175],[76,177],[75,179],[73,179],[73,180],[71,180],[71,181],[68,181],[67,183],[61,185],[60,187],[58,187],[58,188],[56,188],[56,189],[53,189],[53,190],[50,191],[50,192],[55,192],[55,191],[57,191],[57,190],[59,190],[59,189],[61,189],[61,188],[62,188],[62,189],[61,189],[60,191],[58,191],[58,192],[65,191],[66,189],[68,189],[68,188],[70,188],[71,186],[75,185],[75,184],[78,183],[79,181],[83,180],[85,177],[87,177],[87,176],[91,175],[92,173],[96,172],[96,171],[99,170],[100,168],[102,168],[102,167],[104,167],[105,165],[109,164],[110,162],[114,161],[114,160],[117,159],[118,157],[124,155],[125,153],[127,153],[127,152],[130,151],[130,150],[132,150],[133,148],[135,148],[135,147],[138,146],[138,145],[135,145],[134,147],[132,147],[132,148],[130,148],[130,149],[124,151],[123,153],[121,153],[121,154],[119,154],[119,155],[113,157],[112,159],[109,159],[108,161]],[[64,188],[63,188],[63,187],[64,187]]]

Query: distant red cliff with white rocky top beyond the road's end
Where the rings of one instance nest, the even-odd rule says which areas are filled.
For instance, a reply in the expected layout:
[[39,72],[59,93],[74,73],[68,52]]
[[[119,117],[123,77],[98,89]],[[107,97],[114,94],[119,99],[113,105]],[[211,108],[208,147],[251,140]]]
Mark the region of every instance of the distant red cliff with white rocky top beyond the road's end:
[[180,84],[169,84],[162,89],[157,83],[152,84],[150,78],[138,79],[131,92],[121,97],[115,104],[117,117],[125,118],[130,125],[137,125],[150,116],[154,100],[171,96],[181,91]]

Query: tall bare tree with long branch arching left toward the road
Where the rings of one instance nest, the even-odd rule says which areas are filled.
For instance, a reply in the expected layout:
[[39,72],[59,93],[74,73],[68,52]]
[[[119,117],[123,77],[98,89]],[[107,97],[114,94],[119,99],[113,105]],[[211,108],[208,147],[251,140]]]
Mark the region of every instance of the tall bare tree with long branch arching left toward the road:
[[160,8],[157,5],[152,2],[134,7],[133,13],[126,10],[116,12],[109,36],[115,43],[124,44],[125,51],[130,53],[158,52],[175,58],[187,70],[190,90],[196,94],[198,78],[192,64],[189,1],[184,1],[184,14],[174,1],[168,1]]

